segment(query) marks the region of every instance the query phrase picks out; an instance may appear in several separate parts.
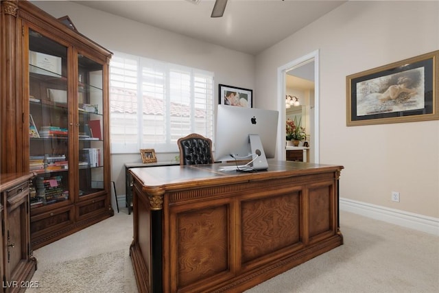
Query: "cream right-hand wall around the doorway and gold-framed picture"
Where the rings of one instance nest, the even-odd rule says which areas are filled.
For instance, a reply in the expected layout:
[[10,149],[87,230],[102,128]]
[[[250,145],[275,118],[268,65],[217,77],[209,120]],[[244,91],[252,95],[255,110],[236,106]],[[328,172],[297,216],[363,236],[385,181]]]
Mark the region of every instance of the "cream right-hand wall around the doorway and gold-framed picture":
[[256,106],[276,109],[277,68],[316,49],[320,163],[344,165],[340,196],[438,218],[439,121],[346,127],[346,75],[438,50],[439,2],[348,1],[257,56],[257,92],[271,98]]

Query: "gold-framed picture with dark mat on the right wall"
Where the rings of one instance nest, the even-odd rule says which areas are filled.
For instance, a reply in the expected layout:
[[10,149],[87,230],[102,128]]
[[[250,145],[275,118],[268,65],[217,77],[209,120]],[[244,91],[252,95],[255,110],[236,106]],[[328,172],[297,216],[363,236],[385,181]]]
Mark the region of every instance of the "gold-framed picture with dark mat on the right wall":
[[433,51],[348,75],[346,125],[439,119],[438,59]]

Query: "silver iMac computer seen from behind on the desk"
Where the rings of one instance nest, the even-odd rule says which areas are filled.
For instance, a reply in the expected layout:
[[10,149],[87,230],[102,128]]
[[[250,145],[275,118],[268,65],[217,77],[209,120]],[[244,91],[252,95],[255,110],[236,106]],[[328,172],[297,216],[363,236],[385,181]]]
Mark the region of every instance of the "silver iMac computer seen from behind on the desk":
[[215,161],[250,160],[227,168],[268,169],[267,158],[276,154],[278,114],[276,110],[218,105]]

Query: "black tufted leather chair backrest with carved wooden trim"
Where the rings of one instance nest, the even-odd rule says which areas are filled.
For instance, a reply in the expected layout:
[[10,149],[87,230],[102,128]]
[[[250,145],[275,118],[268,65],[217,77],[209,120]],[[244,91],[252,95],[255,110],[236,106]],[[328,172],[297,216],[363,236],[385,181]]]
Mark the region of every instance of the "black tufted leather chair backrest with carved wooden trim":
[[212,141],[200,134],[192,133],[177,141],[180,150],[180,165],[212,164]]

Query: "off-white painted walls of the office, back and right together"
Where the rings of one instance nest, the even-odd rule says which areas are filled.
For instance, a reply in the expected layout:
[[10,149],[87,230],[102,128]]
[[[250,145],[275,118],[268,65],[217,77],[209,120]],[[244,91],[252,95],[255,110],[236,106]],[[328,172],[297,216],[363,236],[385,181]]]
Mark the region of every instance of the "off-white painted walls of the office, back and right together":
[[[66,1],[36,1],[107,49],[215,72],[215,84],[254,90],[254,106],[277,108],[277,69],[320,50],[320,163],[344,165],[340,196],[439,218],[439,121],[346,127],[346,75],[439,49],[438,1],[348,1],[254,57]],[[267,98],[258,98],[267,97]],[[160,154],[171,161],[174,154]],[[123,163],[112,180],[125,194]],[[391,191],[401,202],[391,202]]]

